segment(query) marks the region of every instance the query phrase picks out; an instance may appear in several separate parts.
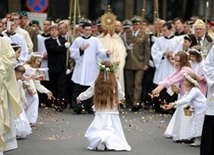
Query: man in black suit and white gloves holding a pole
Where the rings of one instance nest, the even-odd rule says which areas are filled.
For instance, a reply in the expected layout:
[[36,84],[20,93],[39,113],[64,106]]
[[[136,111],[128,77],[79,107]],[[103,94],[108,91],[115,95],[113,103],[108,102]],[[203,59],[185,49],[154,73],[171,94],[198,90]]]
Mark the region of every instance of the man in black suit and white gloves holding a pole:
[[57,25],[52,25],[49,33],[50,38],[45,40],[45,47],[48,53],[51,91],[56,98],[54,108],[62,111],[66,83],[66,51],[70,43],[59,36]]

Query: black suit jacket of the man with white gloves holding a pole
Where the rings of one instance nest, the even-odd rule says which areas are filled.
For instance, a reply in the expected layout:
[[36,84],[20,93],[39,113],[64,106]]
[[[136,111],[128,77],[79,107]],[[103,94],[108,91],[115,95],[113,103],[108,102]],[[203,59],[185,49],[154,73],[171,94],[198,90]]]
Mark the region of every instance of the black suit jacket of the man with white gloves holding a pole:
[[61,45],[58,45],[57,40],[52,37],[45,40],[45,47],[48,53],[48,68],[49,72],[60,72],[66,70],[66,52],[65,39],[58,37]]

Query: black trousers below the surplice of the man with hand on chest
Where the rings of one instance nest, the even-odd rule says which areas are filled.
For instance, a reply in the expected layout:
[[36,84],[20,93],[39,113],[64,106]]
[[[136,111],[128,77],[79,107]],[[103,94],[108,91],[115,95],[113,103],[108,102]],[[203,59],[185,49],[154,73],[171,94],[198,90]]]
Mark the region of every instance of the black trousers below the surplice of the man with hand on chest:
[[[80,93],[86,91],[90,86],[82,86],[82,85],[79,85],[79,84],[74,84],[74,91],[73,91],[73,95],[72,95],[72,107],[73,109],[82,109],[81,105],[80,104],[77,104],[76,102],[76,98],[79,96]],[[93,105],[93,97],[85,100],[85,101],[82,101],[81,102],[82,105],[84,106],[84,109],[86,111],[91,111],[91,107]]]

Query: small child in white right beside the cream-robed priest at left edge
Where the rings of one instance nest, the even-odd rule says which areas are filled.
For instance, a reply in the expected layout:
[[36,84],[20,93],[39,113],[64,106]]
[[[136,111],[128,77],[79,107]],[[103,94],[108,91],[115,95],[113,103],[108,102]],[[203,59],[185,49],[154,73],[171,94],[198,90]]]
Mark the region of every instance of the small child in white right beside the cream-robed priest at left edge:
[[25,72],[25,68],[23,66],[19,65],[15,67],[15,75],[16,75],[16,80],[19,88],[20,97],[21,97],[20,106],[22,108],[22,113],[15,119],[15,128],[16,128],[17,138],[26,138],[27,135],[32,133],[30,123],[25,114],[25,109],[27,109],[28,104],[27,104],[27,99],[25,97],[25,92],[23,89],[23,82],[21,80],[24,72]]

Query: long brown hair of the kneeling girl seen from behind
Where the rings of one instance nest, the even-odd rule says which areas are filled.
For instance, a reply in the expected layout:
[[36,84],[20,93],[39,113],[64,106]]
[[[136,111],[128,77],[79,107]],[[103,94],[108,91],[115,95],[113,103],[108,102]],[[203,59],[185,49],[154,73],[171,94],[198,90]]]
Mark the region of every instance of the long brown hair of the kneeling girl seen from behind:
[[[103,64],[106,67],[112,65],[109,61],[105,61]],[[118,86],[114,72],[100,71],[95,81],[93,98],[95,109],[112,109],[114,107],[118,102]]]

